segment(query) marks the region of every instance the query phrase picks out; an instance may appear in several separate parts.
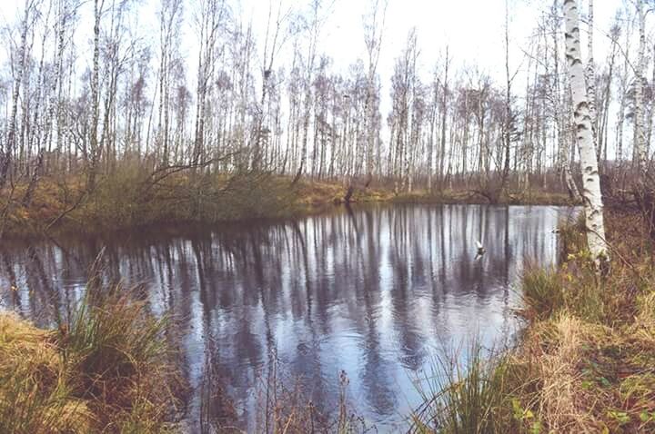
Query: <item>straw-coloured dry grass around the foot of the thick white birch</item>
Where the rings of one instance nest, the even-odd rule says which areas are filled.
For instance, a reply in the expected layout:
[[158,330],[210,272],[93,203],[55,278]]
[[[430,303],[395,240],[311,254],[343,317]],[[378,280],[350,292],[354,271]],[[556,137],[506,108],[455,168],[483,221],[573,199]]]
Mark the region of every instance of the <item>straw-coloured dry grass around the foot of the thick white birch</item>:
[[655,430],[652,246],[637,216],[608,222],[607,276],[593,272],[583,235],[569,227],[559,271],[524,278],[531,323],[514,357],[529,366],[521,399],[544,432]]

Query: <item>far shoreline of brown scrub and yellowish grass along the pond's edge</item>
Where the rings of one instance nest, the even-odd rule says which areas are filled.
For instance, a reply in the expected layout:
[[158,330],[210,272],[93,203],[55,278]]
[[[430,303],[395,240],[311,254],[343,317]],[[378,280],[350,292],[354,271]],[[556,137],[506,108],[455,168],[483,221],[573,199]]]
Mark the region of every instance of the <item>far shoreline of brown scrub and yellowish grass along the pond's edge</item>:
[[[171,188],[185,188],[174,185]],[[250,187],[250,190],[247,190]],[[0,240],[40,240],[68,235],[106,236],[125,233],[155,226],[213,226],[248,222],[276,222],[298,219],[332,212],[346,207],[344,196],[347,187],[343,182],[303,181],[290,187],[286,178],[270,178],[264,182],[244,186],[242,197],[226,196],[211,202],[192,202],[184,197],[186,212],[172,212],[179,206],[169,198],[155,198],[141,203],[133,197],[122,197],[122,192],[111,192],[117,197],[106,197],[99,192],[73,209],[66,210],[65,201],[59,200],[53,185],[45,183],[35,193],[35,200],[29,207],[18,206],[8,212],[4,231],[0,229]],[[257,197],[248,202],[248,195]],[[257,202],[261,197],[264,206]],[[130,200],[133,199],[133,200]],[[350,204],[353,207],[369,204],[434,204],[434,205],[489,205],[484,197],[468,190],[444,190],[428,192],[400,192],[384,186],[356,189]],[[559,192],[534,191],[529,194],[503,195],[494,205],[543,205],[577,206],[566,194]],[[190,210],[190,208],[196,208]],[[64,211],[62,211],[64,210]],[[56,220],[56,222],[55,222]],[[55,223],[53,223],[55,222]]]

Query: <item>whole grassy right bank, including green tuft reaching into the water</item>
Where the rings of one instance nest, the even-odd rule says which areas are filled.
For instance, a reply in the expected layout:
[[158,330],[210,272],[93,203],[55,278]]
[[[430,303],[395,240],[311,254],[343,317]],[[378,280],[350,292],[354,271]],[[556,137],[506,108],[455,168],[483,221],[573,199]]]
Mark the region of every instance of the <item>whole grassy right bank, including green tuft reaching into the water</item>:
[[559,269],[523,277],[518,347],[450,375],[415,432],[655,432],[653,243],[639,215],[607,221],[608,275],[595,273],[580,225],[563,228]]

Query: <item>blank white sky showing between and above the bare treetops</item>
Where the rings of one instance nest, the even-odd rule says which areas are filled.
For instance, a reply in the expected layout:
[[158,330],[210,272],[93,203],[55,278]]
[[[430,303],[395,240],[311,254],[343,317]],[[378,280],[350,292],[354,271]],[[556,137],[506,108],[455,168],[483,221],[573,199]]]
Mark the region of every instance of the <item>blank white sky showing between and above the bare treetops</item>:
[[[49,0],[44,0],[47,2]],[[277,0],[274,0],[277,2]],[[362,15],[365,14],[368,0],[324,0],[325,4],[334,1],[320,37],[319,54],[328,54],[338,70],[345,72],[348,64],[358,57],[364,58],[365,46],[362,30]],[[106,3],[109,3],[106,0]],[[137,0],[137,14],[133,14],[136,32],[152,40],[156,47],[158,23],[156,12],[159,0]],[[192,14],[195,0],[186,0],[185,23],[183,25],[183,54],[188,60],[195,59],[195,32]],[[252,20],[255,32],[263,41],[268,11],[267,0],[241,0],[237,4],[237,15],[244,22]],[[284,0],[285,6],[307,9],[309,0]],[[549,8],[551,0],[509,0],[510,8],[510,53],[512,69],[521,64],[521,48],[527,50],[529,35],[537,25],[539,13]],[[581,12],[586,13],[587,2],[582,2]],[[596,0],[596,26],[606,32],[610,21],[620,6],[620,0]],[[19,15],[24,0],[0,0],[0,25],[13,24]],[[90,50],[90,14],[93,3],[87,0],[83,5],[82,23],[77,32],[78,48]],[[240,11],[238,11],[240,9]],[[418,69],[430,74],[435,64],[449,45],[450,55],[455,65],[477,65],[499,83],[504,79],[504,15],[505,0],[388,0],[387,21],[378,72],[382,84],[388,84],[393,73],[393,62],[407,41],[408,31],[416,26],[420,49]],[[582,26],[584,34],[584,25]],[[584,36],[584,35],[583,35]],[[605,57],[605,37],[596,34],[597,62]],[[584,41],[583,41],[584,44]],[[290,42],[287,43],[290,45]],[[261,44],[260,44],[261,46]],[[185,47],[187,48],[186,53]],[[6,48],[5,48],[6,50]],[[5,56],[6,54],[4,54]],[[278,65],[285,59],[279,59]],[[195,63],[190,62],[190,66]],[[454,68],[455,69],[455,68]],[[386,86],[387,87],[387,86]]]

